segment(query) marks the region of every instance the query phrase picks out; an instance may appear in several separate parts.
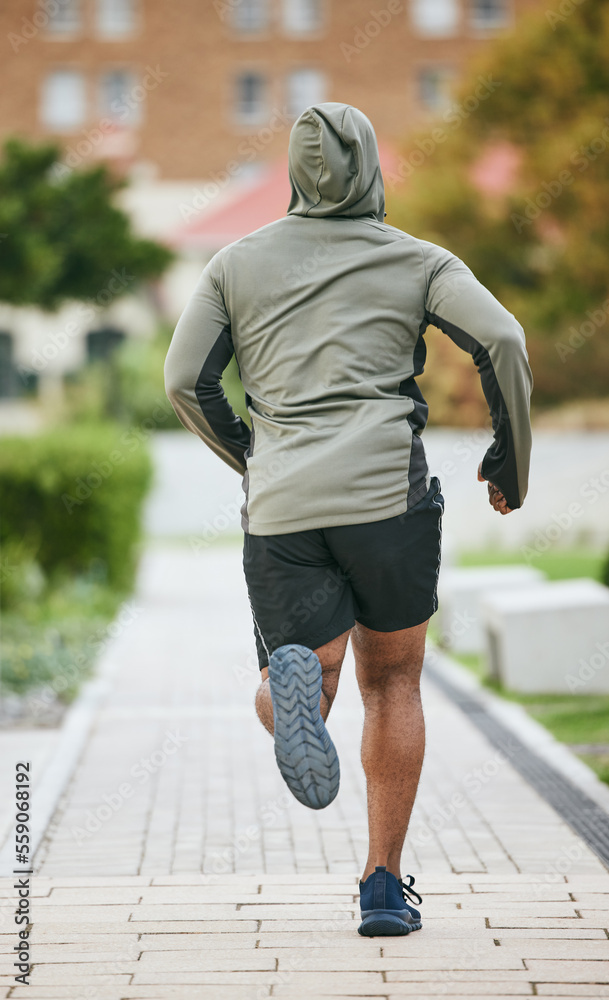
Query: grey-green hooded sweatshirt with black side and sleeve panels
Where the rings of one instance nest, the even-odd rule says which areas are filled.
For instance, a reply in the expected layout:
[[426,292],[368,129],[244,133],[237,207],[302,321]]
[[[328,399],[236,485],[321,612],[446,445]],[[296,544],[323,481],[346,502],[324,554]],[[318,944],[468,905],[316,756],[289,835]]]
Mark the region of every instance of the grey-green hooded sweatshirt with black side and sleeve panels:
[[[472,355],[494,430],[482,472],[520,507],[532,384],[520,325],[453,254],[385,224],[376,137],[356,108],[308,108],[289,173],[287,216],[215,255],[165,365],[181,422],[243,474],[244,530],[377,521],[426,494],[428,324]],[[220,384],[233,354],[251,432]]]

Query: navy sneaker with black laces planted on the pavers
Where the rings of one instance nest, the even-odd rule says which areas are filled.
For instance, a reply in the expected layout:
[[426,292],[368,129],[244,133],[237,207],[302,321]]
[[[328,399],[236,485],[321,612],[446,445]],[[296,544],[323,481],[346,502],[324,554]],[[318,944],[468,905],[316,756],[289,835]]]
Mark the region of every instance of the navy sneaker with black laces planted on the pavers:
[[414,878],[406,876],[408,882],[388,872],[385,867],[377,867],[365,882],[360,882],[360,906],[362,922],[357,928],[364,937],[410,934],[421,929],[421,914],[407,899],[416,897],[421,905],[423,900],[412,887]]

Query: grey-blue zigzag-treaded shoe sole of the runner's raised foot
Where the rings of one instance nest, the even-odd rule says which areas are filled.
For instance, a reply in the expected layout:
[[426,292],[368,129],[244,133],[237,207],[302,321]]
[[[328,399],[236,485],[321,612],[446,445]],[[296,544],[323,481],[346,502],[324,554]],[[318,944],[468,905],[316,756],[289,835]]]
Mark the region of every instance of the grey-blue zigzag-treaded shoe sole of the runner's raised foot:
[[280,646],[269,662],[275,758],[292,795],[310,809],[336,798],[340,765],[319,711],[321,664],[306,646]]

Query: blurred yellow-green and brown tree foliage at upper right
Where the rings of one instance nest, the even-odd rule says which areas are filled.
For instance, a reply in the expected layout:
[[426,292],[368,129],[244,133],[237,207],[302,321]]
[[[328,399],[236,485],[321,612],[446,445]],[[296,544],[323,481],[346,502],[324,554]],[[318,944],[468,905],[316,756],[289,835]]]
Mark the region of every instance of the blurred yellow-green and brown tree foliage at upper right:
[[[523,19],[471,65],[458,110],[411,137],[408,185],[388,190],[388,221],[464,259],[523,324],[536,405],[607,395],[608,47],[609,0]],[[474,174],[505,148],[508,190],[482,189]]]

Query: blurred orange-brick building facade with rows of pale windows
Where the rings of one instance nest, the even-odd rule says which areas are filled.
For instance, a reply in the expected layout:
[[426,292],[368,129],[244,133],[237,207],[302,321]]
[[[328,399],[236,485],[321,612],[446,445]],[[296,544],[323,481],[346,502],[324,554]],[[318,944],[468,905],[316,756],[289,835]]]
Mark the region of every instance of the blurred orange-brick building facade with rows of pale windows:
[[[164,180],[285,150],[309,104],[395,142],[540,0],[19,0],[0,5],[0,130]],[[8,52],[7,56],[7,42]],[[92,147],[92,148],[90,148]]]

